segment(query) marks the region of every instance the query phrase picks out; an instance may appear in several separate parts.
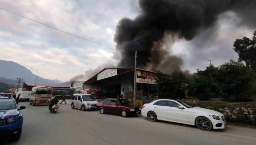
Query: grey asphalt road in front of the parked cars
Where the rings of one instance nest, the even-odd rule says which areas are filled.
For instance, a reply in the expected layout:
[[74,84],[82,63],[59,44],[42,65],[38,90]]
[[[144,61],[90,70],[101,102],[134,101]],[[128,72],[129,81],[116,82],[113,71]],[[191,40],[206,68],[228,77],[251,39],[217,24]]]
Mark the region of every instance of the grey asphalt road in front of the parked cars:
[[143,116],[123,118],[82,112],[61,104],[59,112],[48,106],[30,106],[21,110],[24,116],[22,135],[10,145],[245,145],[255,144],[256,129],[227,126],[225,130],[205,132],[193,126],[149,122]]

